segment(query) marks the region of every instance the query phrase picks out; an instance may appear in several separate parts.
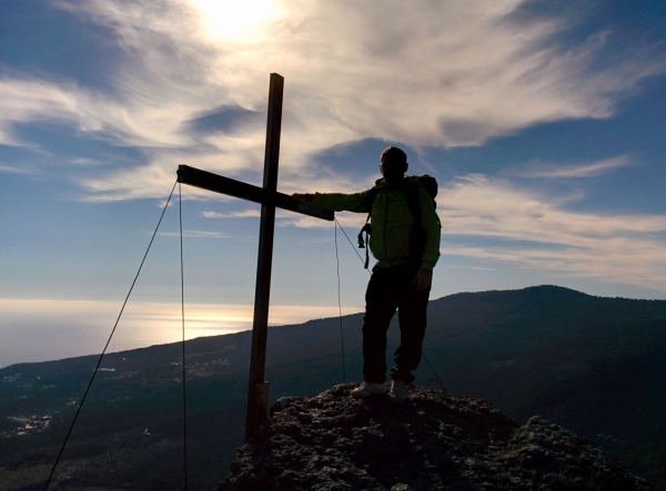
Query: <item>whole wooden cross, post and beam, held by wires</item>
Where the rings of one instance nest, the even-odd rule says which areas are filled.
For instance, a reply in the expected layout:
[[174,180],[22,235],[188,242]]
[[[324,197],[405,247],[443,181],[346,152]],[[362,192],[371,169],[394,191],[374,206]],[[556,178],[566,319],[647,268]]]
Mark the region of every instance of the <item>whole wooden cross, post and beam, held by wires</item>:
[[215,193],[228,194],[261,203],[256,286],[254,290],[254,321],[252,325],[252,355],[250,358],[250,387],[248,390],[248,416],[245,441],[248,441],[269,411],[269,382],[265,381],[266,337],[269,330],[269,300],[271,296],[271,266],[273,264],[273,235],[275,207],[302,213],[316,218],[333,221],[331,211],[300,203],[291,196],[278,193],[278,161],[280,156],[280,129],[282,126],[282,95],[284,78],[271,73],[269,89],[269,117],[266,123],[266,149],[264,156],[263,187],[253,186],[188,165],[178,167],[178,182]]

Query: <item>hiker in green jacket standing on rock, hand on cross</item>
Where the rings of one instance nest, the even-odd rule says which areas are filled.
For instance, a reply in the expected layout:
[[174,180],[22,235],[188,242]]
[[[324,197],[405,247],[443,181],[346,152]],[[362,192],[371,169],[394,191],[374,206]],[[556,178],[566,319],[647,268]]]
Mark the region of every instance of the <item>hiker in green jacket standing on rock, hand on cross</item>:
[[[391,400],[406,399],[414,381],[427,324],[426,309],[433,268],[440,257],[441,225],[434,195],[407,176],[404,151],[389,146],[380,156],[382,178],[360,193],[294,194],[294,200],[334,212],[367,213],[372,225],[370,249],[376,259],[365,291],[363,324],[363,383],[352,397],[364,399],[386,392],[386,331],[398,311],[401,345],[391,369]],[[436,194],[436,182],[430,176]]]

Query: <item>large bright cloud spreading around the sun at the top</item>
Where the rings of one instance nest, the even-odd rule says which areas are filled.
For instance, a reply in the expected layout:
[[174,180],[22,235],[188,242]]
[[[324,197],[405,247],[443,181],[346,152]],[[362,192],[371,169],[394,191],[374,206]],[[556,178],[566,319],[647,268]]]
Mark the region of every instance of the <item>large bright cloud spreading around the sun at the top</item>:
[[80,180],[90,200],[161,197],[179,164],[260,172],[261,119],[203,133],[189,122],[221,106],[263,111],[272,71],[286,78],[281,165],[296,170],[361,139],[477,145],[538,122],[606,117],[666,64],[633,47],[595,64],[608,33],[567,45],[566,19],[517,22],[519,0],[245,3],[56,2],[114,33],[125,58],[103,76],[115,91],[4,78],[0,142],[30,143],[13,135],[18,123],[69,122],[148,160]]

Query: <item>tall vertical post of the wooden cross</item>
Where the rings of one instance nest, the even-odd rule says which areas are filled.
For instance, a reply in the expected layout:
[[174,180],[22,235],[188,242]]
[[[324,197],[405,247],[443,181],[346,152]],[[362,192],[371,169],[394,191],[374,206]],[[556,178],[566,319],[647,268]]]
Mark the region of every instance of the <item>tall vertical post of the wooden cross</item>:
[[278,191],[278,162],[280,158],[280,130],[282,127],[282,99],[284,79],[271,73],[269,89],[269,115],[266,121],[266,147],[264,155],[263,188],[266,200],[261,205],[259,254],[256,259],[256,286],[254,290],[254,321],[252,325],[252,355],[250,358],[250,387],[245,441],[266,418],[268,382],[266,338],[269,331],[269,304],[271,298],[271,269],[273,264],[273,236],[275,232],[275,192]]

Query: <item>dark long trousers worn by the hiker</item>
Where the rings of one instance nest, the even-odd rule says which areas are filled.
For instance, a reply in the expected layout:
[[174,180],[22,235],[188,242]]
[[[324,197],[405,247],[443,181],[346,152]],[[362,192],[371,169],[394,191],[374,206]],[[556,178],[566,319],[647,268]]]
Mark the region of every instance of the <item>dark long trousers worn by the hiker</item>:
[[386,331],[398,309],[400,347],[393,357],[392,379],[412,383],[421,362],[425,335],[430,289],[416,291],[414,277],[420,264],[408,263],[392,268],[375,267],[365,291],[363,324],[363,376],[365,381],[382,383],[386,380]]

